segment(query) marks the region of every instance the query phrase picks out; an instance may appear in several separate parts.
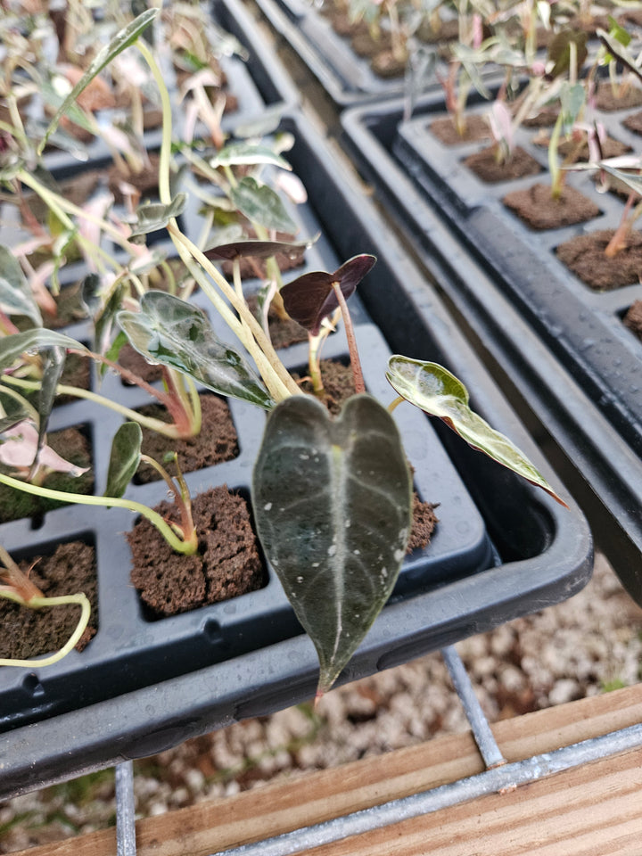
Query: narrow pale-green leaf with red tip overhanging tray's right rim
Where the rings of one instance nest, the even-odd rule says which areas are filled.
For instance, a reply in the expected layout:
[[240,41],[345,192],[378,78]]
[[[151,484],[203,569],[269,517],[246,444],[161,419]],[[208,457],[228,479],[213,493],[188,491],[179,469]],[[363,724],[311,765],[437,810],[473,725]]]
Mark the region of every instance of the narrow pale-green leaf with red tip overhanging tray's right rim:
[[394,354],[388,360],[386,378],[400,396],[425,413],[439,416],[473,449],[484,452],[566,506],[523,452],[471,410],[468,391],[447,368]]

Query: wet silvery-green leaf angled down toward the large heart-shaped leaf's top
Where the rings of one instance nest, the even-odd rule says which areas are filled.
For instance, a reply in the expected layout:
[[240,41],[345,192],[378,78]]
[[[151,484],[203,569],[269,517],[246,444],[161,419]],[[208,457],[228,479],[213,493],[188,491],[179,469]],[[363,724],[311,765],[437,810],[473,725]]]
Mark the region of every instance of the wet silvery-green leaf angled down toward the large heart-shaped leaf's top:
[[148,361],[187,374],[222,395],[266,410],[274,407],[251,366],[219,342],[208,317],[185,300],[165,292],[145,292],[140,312],[121,311],[116,320],[132,347]]

